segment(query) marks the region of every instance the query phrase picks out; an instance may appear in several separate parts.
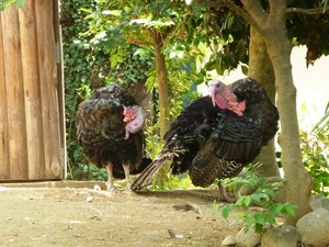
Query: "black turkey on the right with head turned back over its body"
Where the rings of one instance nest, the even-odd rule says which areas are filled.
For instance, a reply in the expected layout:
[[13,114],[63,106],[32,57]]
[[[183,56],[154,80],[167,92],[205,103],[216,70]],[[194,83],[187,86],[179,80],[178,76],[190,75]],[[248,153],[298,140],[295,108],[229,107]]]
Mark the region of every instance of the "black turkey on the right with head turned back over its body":
[[[140,190],[172,159],[172,173],[189,171],[192,183],[208,187],[237,176],[274,137],[279,114],[265,90],[245,78],[226,86],[208,83],[209,96],[194,101],[171,124],[164,147],[132,184]],[[222,200],[229,201],[219,184]]]

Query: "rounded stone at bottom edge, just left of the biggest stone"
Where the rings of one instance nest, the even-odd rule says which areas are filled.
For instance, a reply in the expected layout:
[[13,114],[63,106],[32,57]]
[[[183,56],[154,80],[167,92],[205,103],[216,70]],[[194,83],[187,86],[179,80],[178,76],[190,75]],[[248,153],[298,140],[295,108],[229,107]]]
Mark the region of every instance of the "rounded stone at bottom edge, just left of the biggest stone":
[[300,235],[296,227],[282,225],[263,234],[262,247],[296,247]]

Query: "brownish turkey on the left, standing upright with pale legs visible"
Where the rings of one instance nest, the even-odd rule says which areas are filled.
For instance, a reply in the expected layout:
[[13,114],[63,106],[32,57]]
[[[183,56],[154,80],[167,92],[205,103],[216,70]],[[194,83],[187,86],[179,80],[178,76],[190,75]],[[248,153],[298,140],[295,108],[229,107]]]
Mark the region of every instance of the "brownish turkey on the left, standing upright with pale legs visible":
[[79,104],[78,142],[91,162],[106,168],[109,191],[116,191],[114,178],[125,178],[129,190],[129,175],[141,172],[151,162],[144,151],[145,119],[141,106],[116,85],[97,89]]

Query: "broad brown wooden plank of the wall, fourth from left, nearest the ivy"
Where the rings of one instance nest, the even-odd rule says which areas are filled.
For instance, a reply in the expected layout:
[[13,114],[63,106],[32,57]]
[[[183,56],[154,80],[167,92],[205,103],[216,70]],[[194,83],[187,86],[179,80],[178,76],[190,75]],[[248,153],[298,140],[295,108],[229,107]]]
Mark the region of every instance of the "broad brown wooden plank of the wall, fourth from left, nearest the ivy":
[[46,179],[60,179],[60,121],[53,1],[35,0]]

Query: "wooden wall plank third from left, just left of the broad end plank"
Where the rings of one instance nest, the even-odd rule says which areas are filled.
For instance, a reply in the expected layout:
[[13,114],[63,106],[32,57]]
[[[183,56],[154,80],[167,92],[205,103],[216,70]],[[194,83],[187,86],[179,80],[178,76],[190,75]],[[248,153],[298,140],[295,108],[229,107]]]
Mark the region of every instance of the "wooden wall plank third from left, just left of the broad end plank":
[[33,1],[19,10],[22,68],[24,83],[29,179],[45,179],[44,139],[42,127],[41,91],[36,23]]

